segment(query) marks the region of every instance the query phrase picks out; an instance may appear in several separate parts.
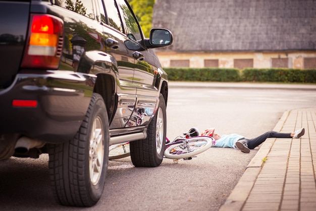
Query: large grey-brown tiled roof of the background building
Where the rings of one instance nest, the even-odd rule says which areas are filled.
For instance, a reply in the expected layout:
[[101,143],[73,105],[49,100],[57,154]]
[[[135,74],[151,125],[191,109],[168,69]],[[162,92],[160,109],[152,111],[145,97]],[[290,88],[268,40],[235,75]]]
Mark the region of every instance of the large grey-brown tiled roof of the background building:
[[316,50],[315,0],[156,0],[175,51]]

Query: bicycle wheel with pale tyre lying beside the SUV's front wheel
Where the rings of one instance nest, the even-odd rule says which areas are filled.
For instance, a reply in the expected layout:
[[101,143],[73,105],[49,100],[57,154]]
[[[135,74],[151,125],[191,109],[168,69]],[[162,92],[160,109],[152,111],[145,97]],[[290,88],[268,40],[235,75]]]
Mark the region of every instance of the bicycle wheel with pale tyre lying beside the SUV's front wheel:
[[169,159],[185,159],[197,155],[212,147],[214,139],[212,137],[197,136],[186,140],[188,140],[188,143],[183,141],[182,143],[168,145],[165,156]]

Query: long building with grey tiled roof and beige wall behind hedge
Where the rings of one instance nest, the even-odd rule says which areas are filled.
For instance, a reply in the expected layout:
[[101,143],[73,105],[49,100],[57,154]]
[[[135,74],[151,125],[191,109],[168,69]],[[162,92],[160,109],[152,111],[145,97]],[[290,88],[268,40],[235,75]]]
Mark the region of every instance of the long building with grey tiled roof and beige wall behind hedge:
[[316,68],[316,1],[156,0],[163,67]]

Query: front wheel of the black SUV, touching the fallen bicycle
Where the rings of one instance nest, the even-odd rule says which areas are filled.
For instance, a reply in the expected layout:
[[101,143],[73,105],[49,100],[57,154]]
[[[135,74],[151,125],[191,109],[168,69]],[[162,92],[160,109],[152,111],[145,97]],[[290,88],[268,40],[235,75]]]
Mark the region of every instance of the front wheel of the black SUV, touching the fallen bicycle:
[[147,138],[130,142],[131,160],[135,167],[157,167],[164,158],[166,145],[166,103],[162,94],[159,106],[149,123]]

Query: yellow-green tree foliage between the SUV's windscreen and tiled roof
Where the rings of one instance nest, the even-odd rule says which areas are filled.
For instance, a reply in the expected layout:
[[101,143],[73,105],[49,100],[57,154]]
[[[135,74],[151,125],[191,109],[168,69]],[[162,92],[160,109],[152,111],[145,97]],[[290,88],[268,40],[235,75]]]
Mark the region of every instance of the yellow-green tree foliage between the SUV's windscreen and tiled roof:
[[155,0],[129,0],[128,2],[141,25],[145,37],[149,37]]

